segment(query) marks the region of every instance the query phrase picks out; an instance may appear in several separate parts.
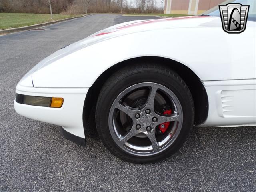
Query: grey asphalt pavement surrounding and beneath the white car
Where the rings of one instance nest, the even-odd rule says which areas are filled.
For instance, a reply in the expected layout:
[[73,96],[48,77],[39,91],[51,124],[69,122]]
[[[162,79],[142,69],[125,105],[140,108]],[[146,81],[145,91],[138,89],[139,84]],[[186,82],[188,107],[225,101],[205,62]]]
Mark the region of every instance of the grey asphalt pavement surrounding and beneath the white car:
[[[156,164],[114,157],[97,136],[78,146],[60,127],[15,113],[15,86],[59,48],[137,17],[91,15],[0,37],[0,191],[255,191],[256,129],[194,128],[186,145]],[[146,19],[146,18],[144,18]]]

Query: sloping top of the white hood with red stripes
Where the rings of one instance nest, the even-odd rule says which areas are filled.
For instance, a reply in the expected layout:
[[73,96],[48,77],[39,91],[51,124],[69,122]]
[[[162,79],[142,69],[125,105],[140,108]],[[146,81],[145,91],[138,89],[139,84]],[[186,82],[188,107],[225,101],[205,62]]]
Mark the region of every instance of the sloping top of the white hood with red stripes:
[[[33,72],[40,70],[40,68],[47,66],[48,64],[54,63],[54,61],[67,56],[77,50],[86,48],[92,44],[108,40],[110,38],[115,38],[118,36],[123,36],[131,33],[146,32],[152,30],[164,30],[172,28],[194,28],[194,27],[207,27],[207,26],[221,26],[221,22],[218,17],[212,16],[188,16],[188,17],[178,17],[178,18],[163,18],[155,20],[136,20],[131,22],[125,22],[117,24],[96,32],[85,39],[78,42],[65,46],[60,50],[54,52],[50,56],[44,58],[40,61],[34,68],[32,68],[25,76],[22,78],[21,82],[31,81],[31,75]],[[185,29],[186,30],[186,29]],[[158,35],[156,33],[156,35]],[[159,34],[160,35],[160,34]],[[26,81],[25,81],[26,79]],[[26,83],[27,84],[27,83]]]

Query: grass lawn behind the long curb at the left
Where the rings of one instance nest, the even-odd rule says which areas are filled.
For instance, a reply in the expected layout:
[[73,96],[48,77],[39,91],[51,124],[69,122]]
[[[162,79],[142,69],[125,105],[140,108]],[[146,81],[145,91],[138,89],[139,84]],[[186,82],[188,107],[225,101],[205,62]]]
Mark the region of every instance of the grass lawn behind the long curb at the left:
[[70,18],[79,15],[34,14],[34,13],[0,13],[0,29],[23,27],[49,21]]

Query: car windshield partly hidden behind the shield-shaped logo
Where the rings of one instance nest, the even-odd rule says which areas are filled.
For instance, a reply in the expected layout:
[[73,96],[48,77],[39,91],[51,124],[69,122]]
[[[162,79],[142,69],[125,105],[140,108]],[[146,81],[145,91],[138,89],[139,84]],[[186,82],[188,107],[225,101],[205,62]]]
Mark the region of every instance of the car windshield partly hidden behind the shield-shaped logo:
[[[256,21],[256,1],[255,0],[227,0],[219,5],[226,5],[228,3],[240,3],[242,5],[249,5],[249,12],[248,12],[248,21]],[[215,6],[208,11],[204,12],[202,15],[220,17],[219,6]]]

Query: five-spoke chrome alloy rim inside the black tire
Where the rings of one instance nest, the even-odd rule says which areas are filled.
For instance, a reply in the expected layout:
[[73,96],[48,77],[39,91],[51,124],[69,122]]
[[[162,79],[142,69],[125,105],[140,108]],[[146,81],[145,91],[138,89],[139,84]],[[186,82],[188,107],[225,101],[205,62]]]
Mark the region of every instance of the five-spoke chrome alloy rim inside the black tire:
[[[163,114],[166,106],[170,106],[172,114]],[[182,107],[175,94],[152,82],[134,84],[122,91],[108,116],[114,142],[135,156],[152,156],[166,150],[178,137],[182,120]],[[163,133],[159,125],[165,122],[170,126]]]

